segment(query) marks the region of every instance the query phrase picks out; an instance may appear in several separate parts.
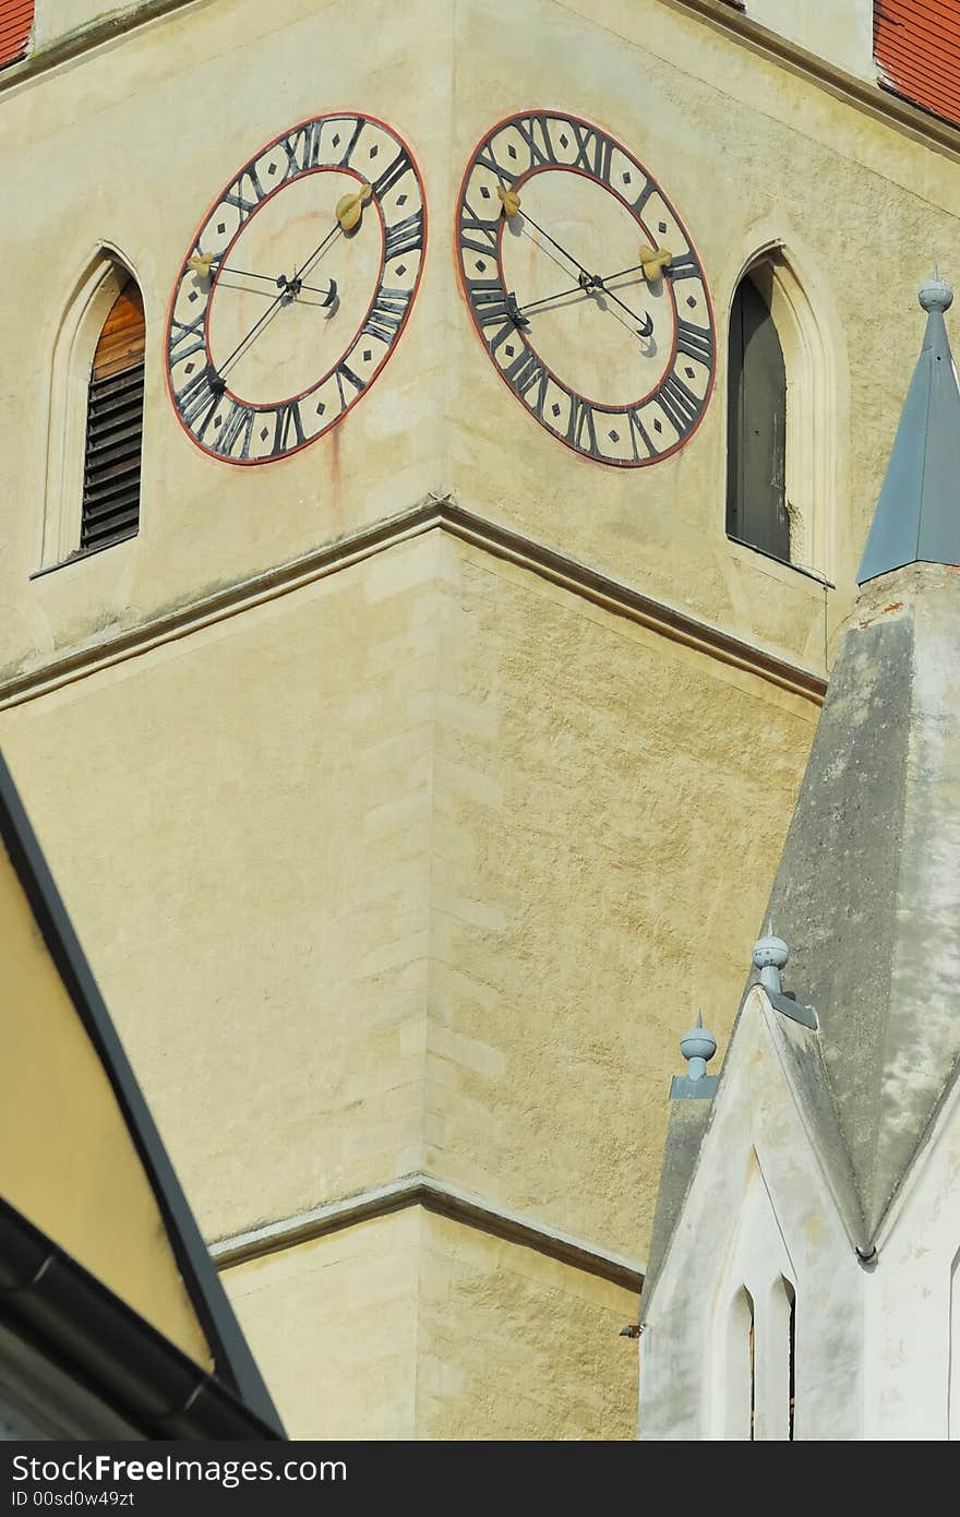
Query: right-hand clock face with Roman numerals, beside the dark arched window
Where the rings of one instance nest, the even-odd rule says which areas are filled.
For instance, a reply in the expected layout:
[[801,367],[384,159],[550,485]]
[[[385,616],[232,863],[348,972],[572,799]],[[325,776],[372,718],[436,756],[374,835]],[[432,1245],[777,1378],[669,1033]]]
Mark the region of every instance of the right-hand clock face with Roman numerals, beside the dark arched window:
[[510,117],[467,165],[456,238],[476,331],[554,437],[620,467],[682,448],[713,388],[713,309],[632,153],[575,115]]

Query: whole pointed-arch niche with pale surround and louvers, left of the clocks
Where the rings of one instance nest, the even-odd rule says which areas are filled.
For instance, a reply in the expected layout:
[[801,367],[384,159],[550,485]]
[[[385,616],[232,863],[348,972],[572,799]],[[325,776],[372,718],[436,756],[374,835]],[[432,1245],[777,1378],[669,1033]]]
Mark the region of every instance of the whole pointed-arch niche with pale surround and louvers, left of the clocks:
[[144,341],[136,276],[100,247],[53,347],[39,572],[138,531]]

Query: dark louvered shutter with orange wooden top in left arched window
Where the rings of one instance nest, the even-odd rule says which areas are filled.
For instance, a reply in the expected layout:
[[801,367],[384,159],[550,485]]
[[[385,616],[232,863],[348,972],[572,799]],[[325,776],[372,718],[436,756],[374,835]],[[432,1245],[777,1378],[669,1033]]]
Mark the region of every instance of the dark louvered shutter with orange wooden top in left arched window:
[[143,296],[130,281],[103,323],[89,376],[80,552],[133,537],[140,525],[144,335]]

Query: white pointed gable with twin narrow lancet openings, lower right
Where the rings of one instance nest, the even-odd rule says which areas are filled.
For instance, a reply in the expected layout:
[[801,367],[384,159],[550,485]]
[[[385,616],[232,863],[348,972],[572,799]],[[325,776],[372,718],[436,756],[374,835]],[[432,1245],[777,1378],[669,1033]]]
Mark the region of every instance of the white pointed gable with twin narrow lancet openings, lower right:
[[[786,1036],[816,1033],[789,1024]],[[863,1437],[867,1276],[805,1124],[783,1039],[783,1018],[754,989],[643,1312],[642,1438],[749,1438],[751,1399],[754,1437],[787,1438],[790,1291],[795,1437]]]

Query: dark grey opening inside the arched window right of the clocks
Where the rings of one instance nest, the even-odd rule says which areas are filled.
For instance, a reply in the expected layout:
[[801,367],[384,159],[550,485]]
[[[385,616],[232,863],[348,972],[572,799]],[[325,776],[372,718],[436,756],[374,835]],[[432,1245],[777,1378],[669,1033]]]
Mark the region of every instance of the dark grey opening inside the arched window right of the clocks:
[[726,534],[790,561],[787,369],[770,308],[754,279],[729,314]]

